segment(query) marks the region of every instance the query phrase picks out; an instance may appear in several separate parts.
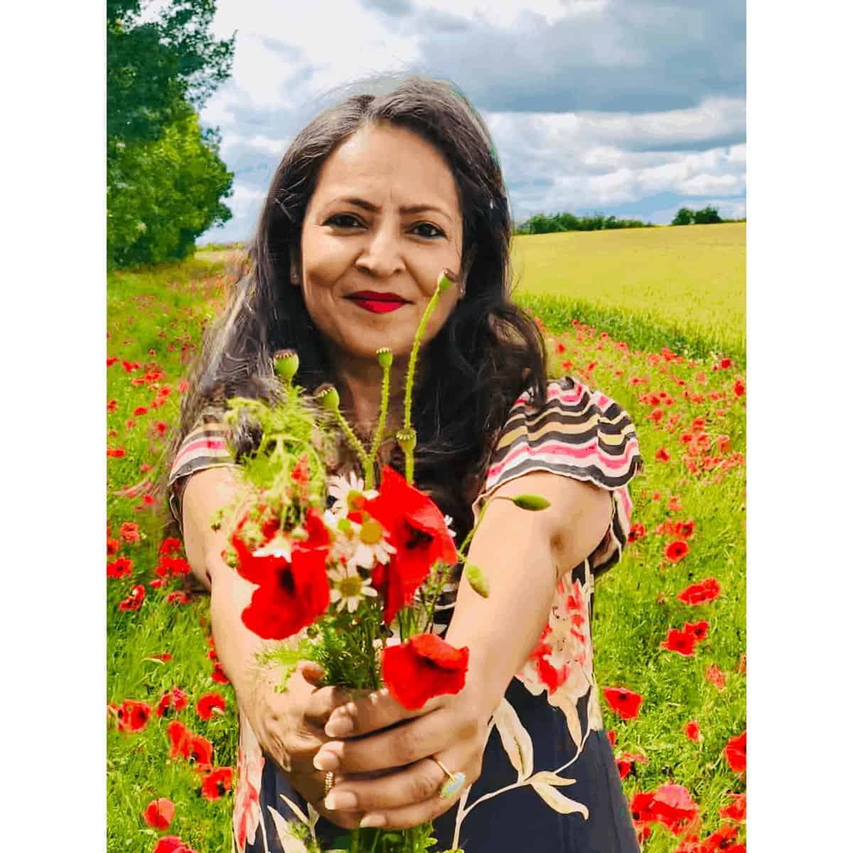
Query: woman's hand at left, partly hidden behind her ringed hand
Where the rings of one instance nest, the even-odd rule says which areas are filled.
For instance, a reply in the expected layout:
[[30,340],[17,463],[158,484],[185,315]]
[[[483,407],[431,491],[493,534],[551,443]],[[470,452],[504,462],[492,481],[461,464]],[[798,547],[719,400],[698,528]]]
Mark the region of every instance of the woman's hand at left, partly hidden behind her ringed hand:
[[322,666],[300,661],[287,682],[287,692],[278,693],[264,678],[255,682],[249,701],[241,704],[261,748],[285,770],[293,787],[320,814],[339,827],[358,826],[361,813],[335,814],[322,804],[325,771],[314,766],[314,757],[328,742],[323,733],[334,708],[345,705],[352,694],[345,688],[318,687]]

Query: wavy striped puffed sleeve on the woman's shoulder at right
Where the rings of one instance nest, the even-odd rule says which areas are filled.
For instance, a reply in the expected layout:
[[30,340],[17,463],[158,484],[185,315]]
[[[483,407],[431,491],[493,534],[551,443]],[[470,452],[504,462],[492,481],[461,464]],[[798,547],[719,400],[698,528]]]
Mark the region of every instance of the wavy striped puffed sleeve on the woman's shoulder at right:
[[628,483],[643,467],[634,424],[618,403],[571,376],[548,382],[543,408],[530,400],[527,391],[510,409],[475,505],[531,471],[601,486],[612,493],[611,523],[587,558],[591,571],[601,574],[618,562],[628,541],[633,506]]

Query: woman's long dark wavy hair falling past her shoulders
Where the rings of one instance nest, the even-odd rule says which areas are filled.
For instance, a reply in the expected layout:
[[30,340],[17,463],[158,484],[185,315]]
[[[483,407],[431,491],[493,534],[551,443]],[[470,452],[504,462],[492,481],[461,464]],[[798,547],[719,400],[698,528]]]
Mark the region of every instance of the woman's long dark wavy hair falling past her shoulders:
[[[387,86],[388,78],[383,80]],[[287,148],[241,280],[206,334],[171,456],[212,403],[235,395],[274,398],[277,350],[299,353],[299,385],[312,390],[334,382],[302,293],[288,278],[323,163],[347,138],[375,123],[407,128],[432,143],[450,167],[461,200],[467,292],[421,356],[412,407],[415,481],[453,517],[461,537],[473,525],[470,505],[510,407],[528,387],[535,402],[544,401],[546,359],[536,322],[510,301],[512,223],[489,131],[459,90],[444,81],[409,77],[384,93],[349,96],[311,120]],[[402,461],[402,454],[392,456],[400,470]]]

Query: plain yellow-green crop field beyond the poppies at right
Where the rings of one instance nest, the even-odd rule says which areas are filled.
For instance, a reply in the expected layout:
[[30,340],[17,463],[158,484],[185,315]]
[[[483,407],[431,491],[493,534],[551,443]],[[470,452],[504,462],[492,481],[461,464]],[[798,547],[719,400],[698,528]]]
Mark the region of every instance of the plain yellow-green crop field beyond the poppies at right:
[[531,307],[557,296],[746,349],[746,223],[519,236],[513,264]]

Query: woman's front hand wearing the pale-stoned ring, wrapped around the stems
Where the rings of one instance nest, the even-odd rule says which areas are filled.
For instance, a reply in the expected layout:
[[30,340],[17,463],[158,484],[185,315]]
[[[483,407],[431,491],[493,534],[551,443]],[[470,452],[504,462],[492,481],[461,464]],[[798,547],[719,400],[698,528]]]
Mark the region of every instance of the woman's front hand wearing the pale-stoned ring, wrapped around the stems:
[[[314,761],[336,776],[325,800],[327,812],[337,815],[331,819],[363,815],[360,826],[405,829],[450,809],[479,778],[494,710],[484,695],[469,677],[460,693],[431,699],[419,711],[407,711],[387,690],[333,711],[325,734],[336,740],[324,744]],[[465,785],[452,797],[440,796],[447,777],[432,757],[451,773],[465,774]],[[374,771],[385,772],[367,775]]]

